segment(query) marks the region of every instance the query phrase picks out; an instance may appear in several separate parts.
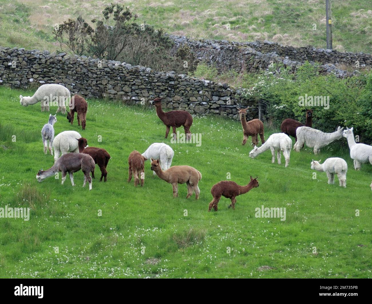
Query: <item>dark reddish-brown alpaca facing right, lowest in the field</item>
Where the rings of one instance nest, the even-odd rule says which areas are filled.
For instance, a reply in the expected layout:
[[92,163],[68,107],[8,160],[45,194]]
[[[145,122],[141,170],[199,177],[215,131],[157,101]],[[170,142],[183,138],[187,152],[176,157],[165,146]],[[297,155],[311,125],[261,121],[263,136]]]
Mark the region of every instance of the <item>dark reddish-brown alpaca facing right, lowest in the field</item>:
[[221,198],[221,195],[231,199],[231,204],[229,208],[232,207],[232,209],[235,210],[236,203],[235,197],[237,197],[240,194],[247,193],[252,188],[256,188],[258,186],[259,184],[257,181],[257,177],[254,179],[251,177],[251,181],[246,186],[240,186],[233,181],[218,182],[211,189],[213,200],[211,201],[211,203],[209,203],[208,211],[211,211],[212,208],[214,208],[214,210],[217,211],[217,204],[219,199]]

